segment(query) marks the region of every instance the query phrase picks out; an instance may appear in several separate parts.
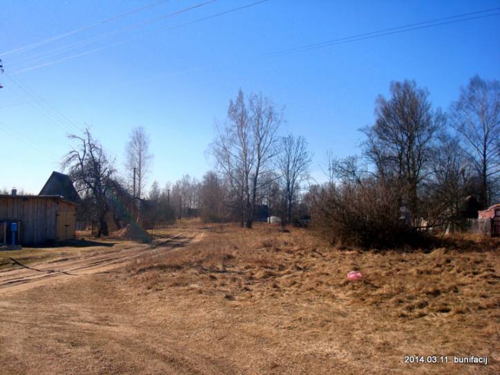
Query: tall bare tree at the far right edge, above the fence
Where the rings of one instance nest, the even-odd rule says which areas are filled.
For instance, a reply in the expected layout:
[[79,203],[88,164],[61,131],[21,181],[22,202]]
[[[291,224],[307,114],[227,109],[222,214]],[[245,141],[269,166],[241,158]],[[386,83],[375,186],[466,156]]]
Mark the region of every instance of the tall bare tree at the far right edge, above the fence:
[[474,157],[481,181],[479,202],[491,203],[491,182],[500,173],[500,82],[472,77],[452,104],[452,126]]

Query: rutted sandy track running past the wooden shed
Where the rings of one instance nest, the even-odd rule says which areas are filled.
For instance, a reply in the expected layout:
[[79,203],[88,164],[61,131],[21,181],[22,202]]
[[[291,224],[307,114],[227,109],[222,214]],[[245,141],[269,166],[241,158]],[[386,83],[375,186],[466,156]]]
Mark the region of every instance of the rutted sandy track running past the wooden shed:
[[191,242],[197,242],[202,235],[203,232],[180,232],[166,240],[157,240],[153,244],[131,242],[128,246],[117,248],[96,247],[95,251],[79,256],[56,258],[32,265],[23,265],[12,258],[15,265],[10,269],[0,271],[0,295],[23,291],[50,282],[60,282],[78,276],[109,271],[125,265],[135,258],[179,249]]

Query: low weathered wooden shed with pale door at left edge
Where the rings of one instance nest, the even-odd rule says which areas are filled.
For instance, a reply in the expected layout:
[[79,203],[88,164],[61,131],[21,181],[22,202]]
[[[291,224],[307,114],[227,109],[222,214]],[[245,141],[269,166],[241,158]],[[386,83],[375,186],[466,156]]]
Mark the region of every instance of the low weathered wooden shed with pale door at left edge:
[[[0,244],[37,245],[75,238],[77,204],[61,195],[0,195]],[[12,235],[14,233],[14,235]]]

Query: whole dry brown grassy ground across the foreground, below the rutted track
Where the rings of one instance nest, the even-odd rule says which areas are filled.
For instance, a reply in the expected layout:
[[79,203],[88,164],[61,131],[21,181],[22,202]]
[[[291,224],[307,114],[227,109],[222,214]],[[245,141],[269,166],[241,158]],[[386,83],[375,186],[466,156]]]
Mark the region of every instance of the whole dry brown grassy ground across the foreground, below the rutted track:
[[[56,263],[71,276],[4,293],[0,373],[500,373],[499,239],[363,252],[305,229],[195,220],[158,235],[151,246],[89,248],[67,267]],[[363,280],[348,281],[351,270]],[[407,355],[489,364],[405,363]]]

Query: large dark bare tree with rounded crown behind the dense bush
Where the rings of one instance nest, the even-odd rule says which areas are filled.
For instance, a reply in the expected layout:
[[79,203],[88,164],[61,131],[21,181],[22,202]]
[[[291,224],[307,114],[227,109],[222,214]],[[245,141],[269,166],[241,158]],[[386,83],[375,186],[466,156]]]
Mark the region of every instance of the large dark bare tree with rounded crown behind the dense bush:
[[393,82],[390,99],[376,100],[376,122],[363,129],[365,156],[379,177],[403,186],[401,198],[414,219],[419,216],[419,186],[429,173],[434,135],[444,124],[432,110],[427,90],[414,81]]

